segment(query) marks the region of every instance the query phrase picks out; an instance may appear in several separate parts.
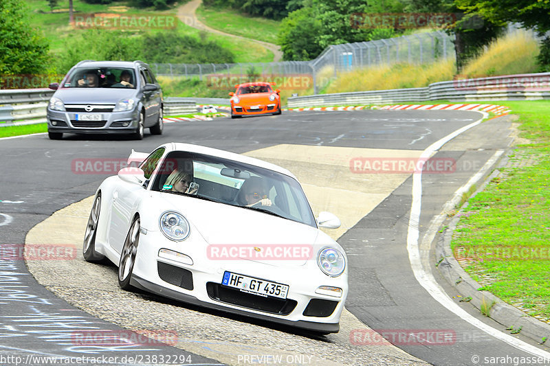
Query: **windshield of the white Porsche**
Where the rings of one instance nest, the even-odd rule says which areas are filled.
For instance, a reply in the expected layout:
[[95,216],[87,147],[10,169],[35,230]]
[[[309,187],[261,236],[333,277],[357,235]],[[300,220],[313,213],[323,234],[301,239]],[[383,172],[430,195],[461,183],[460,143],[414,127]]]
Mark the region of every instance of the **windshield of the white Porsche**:
[[255,165],[210,155],[170,152],[157,166],[151,190],[257,209],[316,227],[300,183]]

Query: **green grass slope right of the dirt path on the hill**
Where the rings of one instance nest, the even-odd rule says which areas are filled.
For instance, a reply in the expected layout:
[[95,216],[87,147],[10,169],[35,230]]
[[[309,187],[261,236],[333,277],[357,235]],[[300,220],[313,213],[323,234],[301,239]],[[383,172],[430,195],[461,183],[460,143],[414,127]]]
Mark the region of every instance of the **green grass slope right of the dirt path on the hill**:
[[268,43],[276,43],[281,25],[270,19],[243,16],[230,8],[205,8],[203,5],[197,9],[197,18],[214,30]]

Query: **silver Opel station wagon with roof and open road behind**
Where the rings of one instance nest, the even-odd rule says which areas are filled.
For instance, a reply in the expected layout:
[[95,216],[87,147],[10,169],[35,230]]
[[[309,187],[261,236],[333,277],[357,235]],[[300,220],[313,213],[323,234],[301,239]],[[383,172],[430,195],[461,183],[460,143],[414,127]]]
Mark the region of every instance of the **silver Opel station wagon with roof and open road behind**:
[[142,139],[145,128],[162,134],[162,89],[142,61],[80,61],[50,89],[56,91],[47,107],[50,139],[63,133]]

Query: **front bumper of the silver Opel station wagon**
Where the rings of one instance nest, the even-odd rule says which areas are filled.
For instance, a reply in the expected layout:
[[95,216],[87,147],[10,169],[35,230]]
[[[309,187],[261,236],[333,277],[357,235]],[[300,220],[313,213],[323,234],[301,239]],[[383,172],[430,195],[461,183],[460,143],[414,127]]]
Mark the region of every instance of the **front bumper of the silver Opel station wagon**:
[[[100,114],[98,121],[78,121],[76,115]],[[133,111],[76,113],[47,109],[47,130],[53,133],[132,133],[137,129],[140,113]]]

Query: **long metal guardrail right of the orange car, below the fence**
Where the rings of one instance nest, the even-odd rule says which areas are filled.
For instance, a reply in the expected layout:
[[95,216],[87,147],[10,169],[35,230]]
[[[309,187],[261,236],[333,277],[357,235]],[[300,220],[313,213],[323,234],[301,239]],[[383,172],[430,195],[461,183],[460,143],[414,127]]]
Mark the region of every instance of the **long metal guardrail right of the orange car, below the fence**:
[[287,106],[289,108],[300,108],[306,106],[426,102],[430,100],[475,102],[480,100],[538,99],[550,99],[550,73],[457,79],[434,82],[425,88],[307,95],[288,98]]

